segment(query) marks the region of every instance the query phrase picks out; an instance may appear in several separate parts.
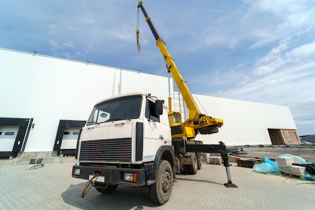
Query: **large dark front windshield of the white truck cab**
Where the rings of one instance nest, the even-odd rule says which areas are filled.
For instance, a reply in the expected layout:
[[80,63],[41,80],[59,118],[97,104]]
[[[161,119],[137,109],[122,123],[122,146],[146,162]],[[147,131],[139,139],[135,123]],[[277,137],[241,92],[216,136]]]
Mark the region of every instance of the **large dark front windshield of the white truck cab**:
[[140,116],[142,96],[126,96],[96,105],[87,125],[122,119],[136,119]]

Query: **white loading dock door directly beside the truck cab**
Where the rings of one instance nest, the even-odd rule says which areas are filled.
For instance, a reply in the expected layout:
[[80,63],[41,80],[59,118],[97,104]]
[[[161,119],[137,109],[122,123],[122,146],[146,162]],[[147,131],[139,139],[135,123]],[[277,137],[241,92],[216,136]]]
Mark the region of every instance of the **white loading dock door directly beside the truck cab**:
[[75,150],[81,128],[64,128],[60,150]]

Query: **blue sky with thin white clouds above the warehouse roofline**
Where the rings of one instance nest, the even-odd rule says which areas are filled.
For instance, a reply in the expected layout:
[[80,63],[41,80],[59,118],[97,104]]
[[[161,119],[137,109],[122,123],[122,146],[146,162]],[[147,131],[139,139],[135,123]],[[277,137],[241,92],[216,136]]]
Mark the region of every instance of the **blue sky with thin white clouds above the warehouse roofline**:
[[[315,134],[314,1],[142,1],[195,94],[290,107]],[[138,1],[1,1],[0,47],[167,76]]]

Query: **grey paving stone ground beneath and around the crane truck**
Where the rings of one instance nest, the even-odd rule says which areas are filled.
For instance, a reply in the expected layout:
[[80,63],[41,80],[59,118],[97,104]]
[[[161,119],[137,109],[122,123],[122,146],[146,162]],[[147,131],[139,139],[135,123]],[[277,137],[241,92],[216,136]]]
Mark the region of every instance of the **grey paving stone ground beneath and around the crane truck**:
[[71,177],[73,164],[30,170],[29,165],[0,164],[0,209],[315,209],[314,181],[231,166],[232,182],[239,188],[226,188],[225,168],[205,163],[196,175],[177,175],[164,205],[151,202],[147,188],[128,186],[106,195],[91,188],[81,198],[86,180]]

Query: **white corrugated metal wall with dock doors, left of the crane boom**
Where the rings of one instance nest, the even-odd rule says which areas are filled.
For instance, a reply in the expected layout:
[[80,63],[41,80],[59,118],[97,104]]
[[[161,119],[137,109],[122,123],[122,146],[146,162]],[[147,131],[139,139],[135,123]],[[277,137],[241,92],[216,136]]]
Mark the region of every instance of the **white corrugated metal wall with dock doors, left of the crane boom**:
[[118,94],[146,92],[167,101],[168,80],[0,48],[0,117],[34,118],[25,152],[52,151],[60,119],[87,120],[96,102]]

